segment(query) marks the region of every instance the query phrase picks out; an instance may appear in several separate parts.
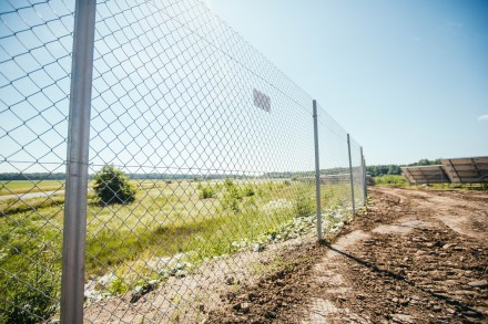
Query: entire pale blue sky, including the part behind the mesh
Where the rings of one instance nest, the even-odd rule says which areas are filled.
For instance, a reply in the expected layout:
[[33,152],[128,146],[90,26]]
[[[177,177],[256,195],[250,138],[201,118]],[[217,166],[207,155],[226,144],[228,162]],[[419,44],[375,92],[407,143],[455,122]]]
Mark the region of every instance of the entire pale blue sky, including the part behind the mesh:
[[[488,1],[99,1],[93,173],[313,169],[312,100],[321,168],[347,133],[354,165],[488,156]],[[63,171],[74,1],[23,3],[0,1],[0,173]]]

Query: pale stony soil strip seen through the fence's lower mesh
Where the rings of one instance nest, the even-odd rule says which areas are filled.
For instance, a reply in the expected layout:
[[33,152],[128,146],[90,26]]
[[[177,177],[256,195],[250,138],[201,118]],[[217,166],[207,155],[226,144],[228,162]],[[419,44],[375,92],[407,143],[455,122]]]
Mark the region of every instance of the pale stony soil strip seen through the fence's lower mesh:
[[225,296],[243,283],[257,283],[263,273],[279,268],[276,255],[296,250],[312,237],[270,244],[264,251],[244,251],[206,260],[190,273],[171,276],[134,300],[128,292],[85,305],[88,323],[202,323],[213,310],[223,310]]

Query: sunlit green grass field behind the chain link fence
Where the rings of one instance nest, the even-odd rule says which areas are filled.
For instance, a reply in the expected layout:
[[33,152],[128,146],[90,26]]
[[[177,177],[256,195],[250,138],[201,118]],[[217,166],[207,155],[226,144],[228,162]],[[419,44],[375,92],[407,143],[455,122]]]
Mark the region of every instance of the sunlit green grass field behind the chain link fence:
[[[19,182],[19,184],[17,184]],[[32,190],[23,181],[8,190]],[[161,278],[159,261],[180,255],[197,264],[205,258],[233,253],[236,242],[258,241],[285,222],[315,213],[315,186],[289,180],[131,181],[135,201],[101,206],[89,189],[85,274],[114,280],[101,290],[122,293]],[[60,189],[62,182],[39,181],[37,190]],[[340,189],[340,188],[339,188]],[[347,188],[324,186],[324,209],[348,199]],[[59,291],[63,228],[63,195],[0,200],[0,290],[10,299],[22,282],[42,283],[50,275]],[[45,285],[45,283],[43,283]],[[40,288],[42,290],[42,288]]]

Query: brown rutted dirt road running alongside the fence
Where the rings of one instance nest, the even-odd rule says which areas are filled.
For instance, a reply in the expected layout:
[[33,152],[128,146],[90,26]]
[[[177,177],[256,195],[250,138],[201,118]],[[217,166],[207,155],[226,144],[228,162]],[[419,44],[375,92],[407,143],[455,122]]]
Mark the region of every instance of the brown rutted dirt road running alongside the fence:
[[488,323],[488,192],[373,188],[327,242],[226,296],[211,323]]

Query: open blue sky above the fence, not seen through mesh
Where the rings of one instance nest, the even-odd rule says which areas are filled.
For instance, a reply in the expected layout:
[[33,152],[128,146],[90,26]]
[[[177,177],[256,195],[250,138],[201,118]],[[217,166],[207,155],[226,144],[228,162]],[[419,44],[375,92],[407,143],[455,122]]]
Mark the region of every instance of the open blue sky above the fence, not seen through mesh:
[[206,0],[368,164],[488,155],[488,1]]

